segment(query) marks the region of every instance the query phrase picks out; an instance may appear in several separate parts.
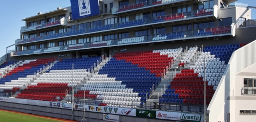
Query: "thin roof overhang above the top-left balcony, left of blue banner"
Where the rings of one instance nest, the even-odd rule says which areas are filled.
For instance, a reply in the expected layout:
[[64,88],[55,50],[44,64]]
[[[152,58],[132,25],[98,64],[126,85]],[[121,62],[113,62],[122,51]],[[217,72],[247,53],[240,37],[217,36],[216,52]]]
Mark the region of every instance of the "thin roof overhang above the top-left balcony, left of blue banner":
[[66,11],[68,11],[68,9],[58,9],[58,10],[54,10],[54,11],[50,11],[50,12],[45,12],[40,15],[23,18],[22,21],[36,20],[36,18],[41,18],[44,16],[51,16],[51,15],[55,15],[55,14],[66,12]]

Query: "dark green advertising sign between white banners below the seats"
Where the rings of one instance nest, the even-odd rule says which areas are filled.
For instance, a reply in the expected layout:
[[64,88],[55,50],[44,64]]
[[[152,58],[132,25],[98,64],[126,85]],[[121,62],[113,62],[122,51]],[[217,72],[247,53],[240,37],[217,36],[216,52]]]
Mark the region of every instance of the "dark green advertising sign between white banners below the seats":
[[136,110],[136,117],[155,119],[156,118],[156,111]]

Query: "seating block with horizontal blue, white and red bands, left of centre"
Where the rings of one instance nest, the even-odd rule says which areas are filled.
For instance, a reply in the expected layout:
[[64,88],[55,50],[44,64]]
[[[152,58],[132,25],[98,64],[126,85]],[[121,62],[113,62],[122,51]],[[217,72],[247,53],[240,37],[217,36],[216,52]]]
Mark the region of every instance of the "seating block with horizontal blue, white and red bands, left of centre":
[[[57,101],[70,93],[72,86],[77,86],[89,73],[87,68],[94,65],[100,57],[80,59],[63,59],[41,74],[30,86],[25,88],[16,98]],[[74,63],[74,70],[72,70]],[[57,98],[59,97],[59,99]],[[95,98],[94,97],[90,98]]]

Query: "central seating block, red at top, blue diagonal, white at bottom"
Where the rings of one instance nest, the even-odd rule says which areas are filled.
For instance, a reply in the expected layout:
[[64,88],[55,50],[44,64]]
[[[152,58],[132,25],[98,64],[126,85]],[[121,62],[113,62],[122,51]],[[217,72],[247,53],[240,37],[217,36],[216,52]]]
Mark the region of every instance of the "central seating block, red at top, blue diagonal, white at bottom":
[[[178,50],[178,49],[177,49]],[[169,54],[170,55],[170,54]],[[102,106],[132,107],[143,104],[161,81],[173,56],[150,52],[118,53],[91,78],[81,91],[102,95]],[[150,91],[151,89],[151,91]],[[77,94],[84,98],[84,92]],[[96,97],[96,96],[94,96]]]

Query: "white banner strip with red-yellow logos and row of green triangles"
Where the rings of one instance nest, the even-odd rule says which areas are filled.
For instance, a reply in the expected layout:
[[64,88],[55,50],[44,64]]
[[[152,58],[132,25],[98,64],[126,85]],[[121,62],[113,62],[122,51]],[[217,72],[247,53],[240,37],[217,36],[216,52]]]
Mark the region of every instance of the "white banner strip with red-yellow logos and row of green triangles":
[[136,109],[132,109],[132,108],[119,108],[119,107],[90,106],[90,105],[88,105],[88,111],[136,116]]

